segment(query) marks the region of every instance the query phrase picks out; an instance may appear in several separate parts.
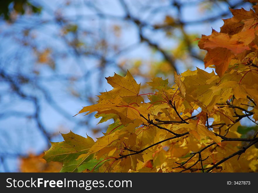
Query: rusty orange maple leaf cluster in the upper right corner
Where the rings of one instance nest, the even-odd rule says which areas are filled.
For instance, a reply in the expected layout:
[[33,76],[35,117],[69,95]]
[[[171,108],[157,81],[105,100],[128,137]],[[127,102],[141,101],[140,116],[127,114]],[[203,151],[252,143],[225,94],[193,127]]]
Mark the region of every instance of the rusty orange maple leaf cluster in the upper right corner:
[[202,35],[198,42],[201,49],[207,50],[205,67],[214,65],[220,77],[228,70],[232,59],[239,56],[244,58],[250,53],[248,50],[257,47],[257,14],[252,9],[230,10],[233,17],[223,20],[224,25],[220,28],[220,33],[213,30],[211,35]]

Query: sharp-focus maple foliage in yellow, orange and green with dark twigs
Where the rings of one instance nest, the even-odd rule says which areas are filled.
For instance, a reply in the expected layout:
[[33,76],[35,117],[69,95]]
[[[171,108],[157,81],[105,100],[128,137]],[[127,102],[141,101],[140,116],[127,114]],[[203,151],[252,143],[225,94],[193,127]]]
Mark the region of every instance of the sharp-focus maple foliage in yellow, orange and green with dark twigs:
[[258,6],[231,12],[198,42],[216,74],[175,72],[174,85],[155,77],[142,94],[129,71],[107,77],[113,89],[79,114],[114,123],[96,141],[62,134],[43,158],[61,172],[258,172],[258,126],[241,125],[258,121]]

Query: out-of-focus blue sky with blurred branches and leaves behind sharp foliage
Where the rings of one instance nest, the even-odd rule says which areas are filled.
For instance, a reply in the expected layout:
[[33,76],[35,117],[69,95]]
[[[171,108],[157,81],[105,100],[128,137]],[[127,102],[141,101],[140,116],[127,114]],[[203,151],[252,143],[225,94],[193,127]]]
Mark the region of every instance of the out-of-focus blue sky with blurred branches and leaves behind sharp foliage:
[[[94,114],[73,117],[127,69],[145,82],[195,66],[196,37],[219,31],[241,0],[0,1],[0,171],[57,172],[40,159],[59,132],[102,136]],[[252,129],[251,129],[252,130]]]

